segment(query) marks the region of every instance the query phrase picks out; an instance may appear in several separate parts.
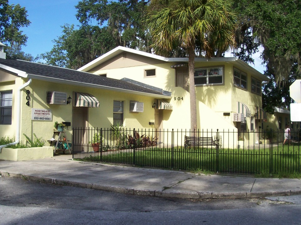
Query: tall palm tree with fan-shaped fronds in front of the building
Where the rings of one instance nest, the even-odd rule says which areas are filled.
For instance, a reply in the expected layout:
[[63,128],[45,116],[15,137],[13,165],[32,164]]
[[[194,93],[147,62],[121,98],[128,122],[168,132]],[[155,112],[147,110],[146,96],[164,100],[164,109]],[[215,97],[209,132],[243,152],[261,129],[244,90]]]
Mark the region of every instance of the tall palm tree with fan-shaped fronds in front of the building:
[[[159,1],[159,2],[158,2]],[[194,59],[211,58],[235,46],[236,14],[230,0],[153,0],[146,23],[156,54],[168,55],[179,43],[188,55],[191,132],[197,129]]]

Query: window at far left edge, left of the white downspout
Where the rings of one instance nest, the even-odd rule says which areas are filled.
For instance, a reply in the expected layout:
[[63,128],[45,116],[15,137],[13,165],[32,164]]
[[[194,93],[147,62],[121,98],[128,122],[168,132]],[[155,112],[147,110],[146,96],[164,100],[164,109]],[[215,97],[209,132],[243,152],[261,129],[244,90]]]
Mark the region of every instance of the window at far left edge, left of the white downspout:
[[0,124],[12,124],[13,91],[0,92]]

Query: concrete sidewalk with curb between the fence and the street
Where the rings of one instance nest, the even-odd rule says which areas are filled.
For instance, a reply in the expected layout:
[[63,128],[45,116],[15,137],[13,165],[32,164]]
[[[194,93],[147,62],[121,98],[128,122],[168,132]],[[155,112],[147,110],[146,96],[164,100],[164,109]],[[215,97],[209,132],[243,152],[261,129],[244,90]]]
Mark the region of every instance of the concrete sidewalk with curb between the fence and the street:
[[181,171],[73,161],[57,155],[0,161],[2,176],[112,192],[177,198],[251,198],[301,194],[301,179],[198,175]]

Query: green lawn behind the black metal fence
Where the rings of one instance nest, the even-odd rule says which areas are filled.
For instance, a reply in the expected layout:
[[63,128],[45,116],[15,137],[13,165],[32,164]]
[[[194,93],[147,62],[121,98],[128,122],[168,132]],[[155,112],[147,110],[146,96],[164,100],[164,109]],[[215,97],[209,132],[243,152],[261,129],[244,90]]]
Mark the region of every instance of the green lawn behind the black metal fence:
[[256,177],[301,178],[299,146],[266,149],[147,148],[93,153],[84,161],[181,169],[195,173],[249,173]]

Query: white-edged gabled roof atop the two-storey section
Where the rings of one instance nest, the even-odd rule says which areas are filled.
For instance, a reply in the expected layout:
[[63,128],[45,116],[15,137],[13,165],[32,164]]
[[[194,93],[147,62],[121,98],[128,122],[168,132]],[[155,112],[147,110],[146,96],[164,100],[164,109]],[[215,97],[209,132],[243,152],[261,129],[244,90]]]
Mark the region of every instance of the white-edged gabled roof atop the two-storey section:
[[[187,63],[188,62],[188,58],[166,58],[166,57],[158,56],[155,54],[146,53],[146,52],[138,51],[138,50],[127,48],[127,47],[118,46],[118,47],[115,47],[114,49],[112,49],[111,51],[103,54],[102,56],[94,59],[90,63],[87,63],[86,65],[82,66],[81,68],[79,68],[77,70],[85,71],[85,72],[90,71],[92,68],[95,68],[96,66],[108,61],[109,59],[111,59],[123,52],[134,53],[134,54],[137,54],[140,56],[145,56],[145,57],[161,60],[163,62],[170,62],[170,63]],[[202,63],[202,62],[203,63],[206,63],[206,62],[231,63],[236,67],[239,67],[239,68],[243,67],[243,68],[251,71],[252,74],[254,74],[257,78],[261,79],[262,81],[270,80],[266,76],[264,76],[262,73],[260,73],[259,71],[257,71],[253,67],[251,67],[249,64],[247,64],[244,61],[242,61],[238,58],[235,58],[235,57],[219,57],[219,58],[211,58],[211,59],[196,57],[194,61],[195,61],[195,63],[197,63],[197,62],[200,62],[200,63]]]

